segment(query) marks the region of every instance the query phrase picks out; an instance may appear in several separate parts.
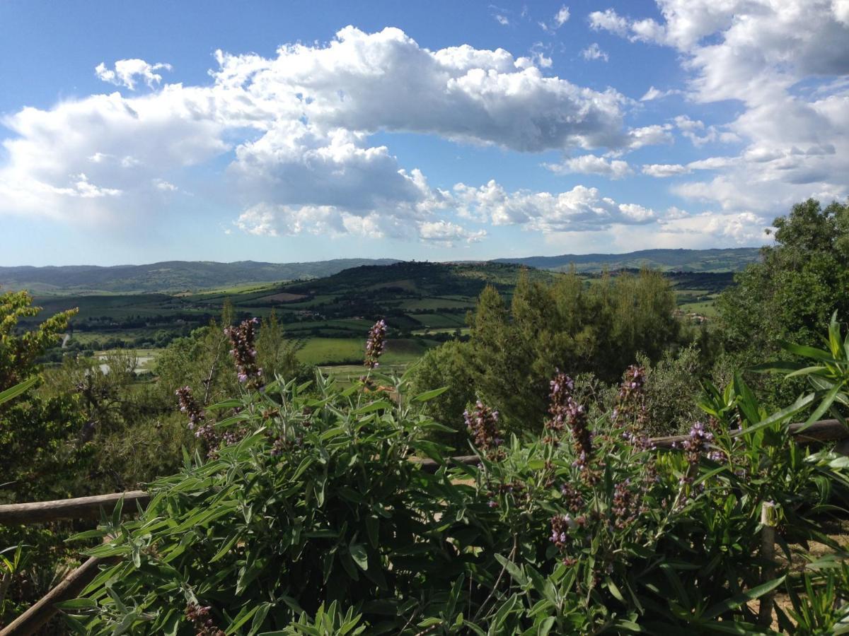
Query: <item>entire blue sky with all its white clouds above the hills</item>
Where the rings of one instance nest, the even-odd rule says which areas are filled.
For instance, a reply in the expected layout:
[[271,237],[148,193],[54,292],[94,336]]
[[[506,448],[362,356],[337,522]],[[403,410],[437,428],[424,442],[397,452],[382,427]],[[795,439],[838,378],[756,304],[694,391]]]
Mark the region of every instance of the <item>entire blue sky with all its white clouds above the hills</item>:
[[849,0],[0,0],[0,265],[758,246]]

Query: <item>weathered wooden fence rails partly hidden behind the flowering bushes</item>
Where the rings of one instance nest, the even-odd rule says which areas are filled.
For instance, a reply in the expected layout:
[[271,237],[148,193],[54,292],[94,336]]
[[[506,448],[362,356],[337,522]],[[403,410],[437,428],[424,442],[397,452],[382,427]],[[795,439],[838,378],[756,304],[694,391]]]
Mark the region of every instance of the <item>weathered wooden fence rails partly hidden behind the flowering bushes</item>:
[[[843,455],[849,455],[849,428],[837,420],[815,421],[805,427],[803,424],[790,424],[790,432],[796,438],[797,444],[822,444],[838,442],[835,450]],[[733,436],[741,432],[732,433]],[[686,440],[686,435],[675,435],[649,440],[657,448],[672,448],[675,444]],[[436,460],[414,459],[423,471],[436,472],[441,466]],[[448,457],[448,464],[475,465],[479,461],[477,455],[461,455]],[[120,499],[124,499],[122,511],[126,514],[143,508],[149,504],[150,495],[143,490],[131,490],[126,493],[98,494],[93,497],[78,497],[76,499],[59,499],[55,501],[37,501],[29,504],[0,505],[0,524],[29,524],[53,522],[62,519],[89,519],[100,516],[101,510],[110,510]],[[134,503],[135,505],[127,505]],[[82,589],[99,572],[99,566],[113,561],[91,557],[71,572],[55,588],[50,590],[41,600],[30,609],[18,616],[7,627],[0,630],[0,636],[31,636],[42,628],[57,611],[56,604],[64,600],[76,598]]]

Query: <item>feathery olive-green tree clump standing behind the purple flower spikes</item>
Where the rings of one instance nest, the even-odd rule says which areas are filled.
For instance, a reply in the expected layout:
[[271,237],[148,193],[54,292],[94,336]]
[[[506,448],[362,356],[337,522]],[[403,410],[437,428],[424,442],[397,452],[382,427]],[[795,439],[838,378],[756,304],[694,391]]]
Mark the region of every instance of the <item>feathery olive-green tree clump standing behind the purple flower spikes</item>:
[[652,271],[588,287],[574,272],[550,285],[522,276],[509,308],[487,287],[469,317],[475,390],[509,428],[538,430],[556,369],[613,382],[638,353],[657,360],[686,339],[674,310],[669,284]]

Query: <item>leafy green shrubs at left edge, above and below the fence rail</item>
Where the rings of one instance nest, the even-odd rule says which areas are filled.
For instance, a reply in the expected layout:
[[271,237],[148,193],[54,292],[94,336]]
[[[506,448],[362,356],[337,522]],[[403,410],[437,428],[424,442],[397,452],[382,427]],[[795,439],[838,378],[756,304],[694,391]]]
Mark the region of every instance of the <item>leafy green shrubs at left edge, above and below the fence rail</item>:
[[[59,340],[73,311],[54,315],[31,331],[19,323],[39,308],[24,292],[0,294],[0,502],[46,494],[66,496],[63,479],[85,463],[75,443],[82,417],[68,396],[44,397],[37,358]],[[64,572],[68,550],[53,532],[0,526],[0,622],[48,591]]]

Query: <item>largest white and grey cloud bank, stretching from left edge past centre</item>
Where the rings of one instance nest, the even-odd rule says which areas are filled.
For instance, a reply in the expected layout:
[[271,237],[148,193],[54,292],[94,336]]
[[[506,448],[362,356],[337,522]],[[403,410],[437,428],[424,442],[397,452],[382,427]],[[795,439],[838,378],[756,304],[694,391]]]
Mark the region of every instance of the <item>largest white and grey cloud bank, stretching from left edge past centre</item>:
[[545,75],[551,61],[538,53],[514,57],[469,45],[430,51],[398,29],[349,26],[326,45],[286,45],[271,58],[216,52],[211,83],[202,86],[160,87],[158,71],[168,64],[100,64],[104,81],[155,90],[8,116],[13,137],[3,141],[0,213],[143,215],[150,197],[180,186],[180,170],[232,153],[226,190],[245,210],[238,223],[245,232],[456,234],[456,224],[440,225],[447,194],[371,143],[374,133],[433,134],[519,152],[631,142],[621,94]]

